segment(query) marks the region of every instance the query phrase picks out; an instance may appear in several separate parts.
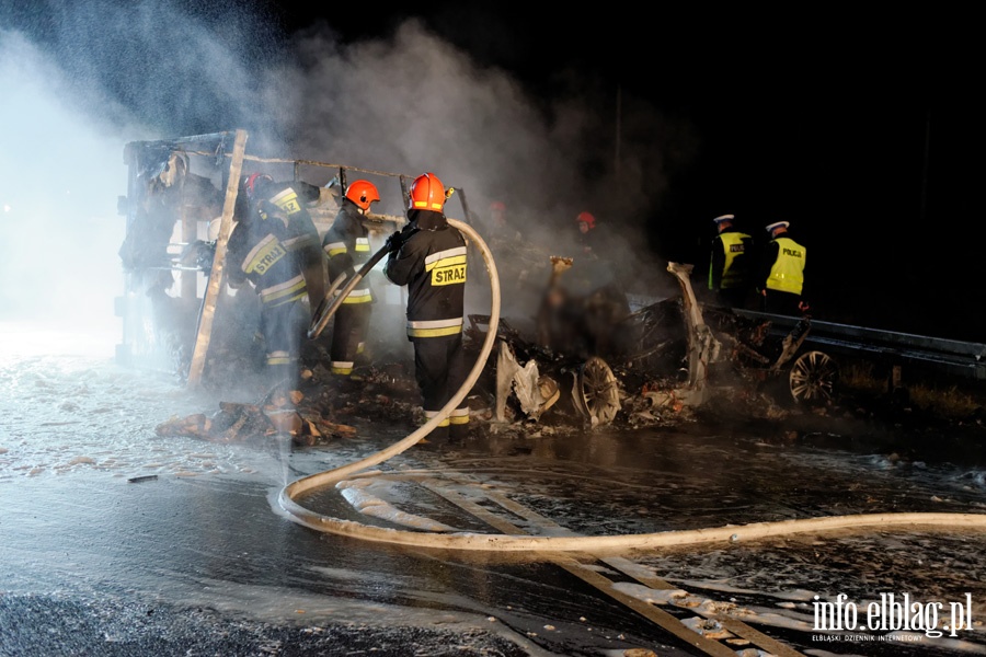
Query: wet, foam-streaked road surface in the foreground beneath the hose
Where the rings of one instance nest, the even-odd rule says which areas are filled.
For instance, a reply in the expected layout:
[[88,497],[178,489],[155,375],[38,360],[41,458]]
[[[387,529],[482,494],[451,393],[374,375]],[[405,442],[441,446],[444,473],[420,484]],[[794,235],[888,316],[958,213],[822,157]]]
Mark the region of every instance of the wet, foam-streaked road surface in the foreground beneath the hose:
[[[307,449],[162,438],[154,426],[216,400],[100,361],[8,359],[0,387],[0,655],[986,654],[982,531],[593,555],[392,546],[291,522],[277,495],[400,428],[367,423]],[[832,418],[493,435],[381,464],[360,493],[403,516],[358,512],[337,491],[306,505],[381,527],[501,531],[450,491],[511,500],[523,531],[583,535],[983,511],[982,450],[892,438]],[[814,631],[814,597],[839,593],[860,609],[908,593],[945,613],[968,600],[973,623],[955,636]]]

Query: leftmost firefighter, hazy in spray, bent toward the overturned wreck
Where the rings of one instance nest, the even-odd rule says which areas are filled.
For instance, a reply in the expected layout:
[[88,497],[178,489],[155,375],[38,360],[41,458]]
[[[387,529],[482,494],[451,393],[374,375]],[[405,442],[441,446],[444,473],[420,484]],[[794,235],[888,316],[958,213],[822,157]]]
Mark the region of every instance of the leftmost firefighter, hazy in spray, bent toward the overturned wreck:
[[[250,201],[256,199],[256,182],[253,175],[244,182]],[[284,391],[299,387],[301,336],[311,315],[301,253],[289,247],[296,239],[282,216],[249,203],[227,243],[228,284],[239,289],[249,283],[260,298],[267,373]]]

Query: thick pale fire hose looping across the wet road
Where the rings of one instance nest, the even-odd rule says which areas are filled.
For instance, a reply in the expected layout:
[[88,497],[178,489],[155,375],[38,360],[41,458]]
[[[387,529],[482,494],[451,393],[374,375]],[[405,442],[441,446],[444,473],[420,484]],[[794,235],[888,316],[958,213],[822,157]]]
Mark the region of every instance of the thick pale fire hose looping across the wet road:
[[[646,550],[668,548],[675,545],[689,545],[701,543],[715,543],[726,541],[747,541],[769,537],[822,532],[845,529],[886,529],[886,528],[986,528],[986,514],[863,514],[853,516],[828,516],[823,518],[806,518],[796,520],[780,520],[775,522],[754,522],[741,526],[725,526],[709,529],[666,531],[646,534],[621,534],[605,537],[530,537],[495,533],[432,533],[425,531],[405,531],[363,525],[353,520],[343,520],[324,516],[305,508],[296,499],[306,493],[320,488],[334,486],[340,481],[377,465],[388,459],[410,449],[422,438],[432,433],[452,410],[457,408],[466,395],[475,384],[486,359],[493,350],[496,341],[496,328],[500,322],[500,277],[496,273],[496,264],[489,246],[469,224],[455,219],[448,222],[460,230],[467,239],[471,240],[480,250],[486,265],[492,288],[492,301],[490,308],[490,322],[482,349],[469,377],[462,388],[449,400],[449,402],[429,419],[406,438],[393,443],[387,449],[380,450],[369,457],[336,468],[311,474],[291,482],[280,491],[278,504],[288,517],[299,525],[325,533],[353,537],[366,541],[409,545],[414,548],[435,548],[442,550],[471,550],[471,551],[513,551],[513,552],[609,552],[628,550]],[[340,292],[344,298],[359,283],[362,277],[354,277]],[[337,304],[330,307],[334,311]],[[331,314],[331,312],[330,312]],[[324,326],[328,318],[321,318]],[[370,473],[364,473],[368,475]]]

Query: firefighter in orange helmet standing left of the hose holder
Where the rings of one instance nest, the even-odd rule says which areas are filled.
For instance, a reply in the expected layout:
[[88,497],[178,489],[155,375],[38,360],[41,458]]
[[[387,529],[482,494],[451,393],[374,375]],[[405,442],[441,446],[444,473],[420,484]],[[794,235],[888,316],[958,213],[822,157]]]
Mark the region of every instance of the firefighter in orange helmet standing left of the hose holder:
[[[380,193],[369,181],[354,181],[346,188],[339,214],[322,238],[322,249],[329,257],[329,279],[345,273],[354,276],[369,260],[369,230],[363,218],[370,205],[380,200]],[[344,280],[346,280],[344,279]],[[343,283],[345,285],[345,283]],[[365,348],[374,302],[369,278],[365,277],[346,296],[335,312],[332,345],[329,349],[333,374],[349,377],[356,356]]]

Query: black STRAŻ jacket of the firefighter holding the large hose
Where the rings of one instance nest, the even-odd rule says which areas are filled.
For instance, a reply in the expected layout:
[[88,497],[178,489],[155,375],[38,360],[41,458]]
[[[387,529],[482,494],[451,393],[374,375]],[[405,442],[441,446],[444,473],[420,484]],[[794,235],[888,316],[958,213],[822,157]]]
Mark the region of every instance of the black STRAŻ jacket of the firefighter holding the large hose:
[[466,239],[445,215],[415,210],[400,250],[383,267],[388,280],[408,286],[408,338],[443,337],[462,331]]

